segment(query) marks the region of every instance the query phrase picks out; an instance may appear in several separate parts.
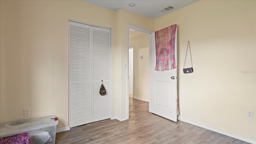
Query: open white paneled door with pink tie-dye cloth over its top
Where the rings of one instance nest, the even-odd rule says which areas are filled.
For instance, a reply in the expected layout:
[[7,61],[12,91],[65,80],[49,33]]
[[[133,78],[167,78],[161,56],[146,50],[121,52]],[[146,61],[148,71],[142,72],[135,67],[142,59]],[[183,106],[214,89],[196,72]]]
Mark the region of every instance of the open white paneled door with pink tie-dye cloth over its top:
[[[177,35],[177,30],[176,30]],[[176,36],[177,39],[177,36]],[[175,60],[177,65],[177,40]],[[155,33],[151,34],[150,48],[150,100],[149,111],[177,122],[177,68],[166,71],[154,70],[156,65]],[[171,77],[174,76],[172,79]]]

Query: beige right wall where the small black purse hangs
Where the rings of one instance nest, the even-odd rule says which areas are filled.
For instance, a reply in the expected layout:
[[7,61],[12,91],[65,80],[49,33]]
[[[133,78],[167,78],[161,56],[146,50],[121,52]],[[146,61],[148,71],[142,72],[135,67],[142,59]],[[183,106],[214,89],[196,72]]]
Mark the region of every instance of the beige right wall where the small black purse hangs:
[[[201,0],[156,19],[155,30],[172,24],[180,118],[256,140],[256,1]],[[188,40],[194,72],[183,74]]]

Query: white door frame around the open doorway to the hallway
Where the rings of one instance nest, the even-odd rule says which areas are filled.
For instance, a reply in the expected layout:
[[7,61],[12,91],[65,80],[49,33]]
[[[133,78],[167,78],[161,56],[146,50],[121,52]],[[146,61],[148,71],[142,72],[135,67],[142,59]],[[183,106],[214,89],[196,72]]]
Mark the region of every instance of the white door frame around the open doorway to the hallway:
[[[127,38],[127,43],[126,43],[126,49],[127,49],[127,59],[126,59],[126,63],[127,63],[127,70],[126,70],[126,118],[129,119],[129,30],[136,30],[145,34],[148,34],[148,39],[149,39],[149,60],[151,60],[151,33],[153,31],[151,30],[146,30],[144,28],[139,28],[136,26],[132,26],[132,25],[127,25],[126,26],[126,38]],[[148,71],[150,72],[150,71]]]

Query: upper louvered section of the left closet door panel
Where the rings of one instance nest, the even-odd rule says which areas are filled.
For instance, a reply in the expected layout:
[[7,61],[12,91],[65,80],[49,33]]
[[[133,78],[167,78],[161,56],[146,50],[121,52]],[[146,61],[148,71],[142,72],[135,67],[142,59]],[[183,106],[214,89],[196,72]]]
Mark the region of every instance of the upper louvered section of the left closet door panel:
[[70,22],[70,81],[91,80],[90,27]]

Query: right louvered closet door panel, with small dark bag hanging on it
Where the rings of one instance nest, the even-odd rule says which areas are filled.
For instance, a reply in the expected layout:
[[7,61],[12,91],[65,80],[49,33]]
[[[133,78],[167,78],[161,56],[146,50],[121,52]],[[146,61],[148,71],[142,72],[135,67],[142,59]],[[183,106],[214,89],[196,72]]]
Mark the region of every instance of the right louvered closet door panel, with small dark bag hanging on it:
[[[110,30],[105,28],[92,28],[92,122],[105,120],[111,116],[111,88],[110,88]],[[99,94],[103,84],[106,95]]]

